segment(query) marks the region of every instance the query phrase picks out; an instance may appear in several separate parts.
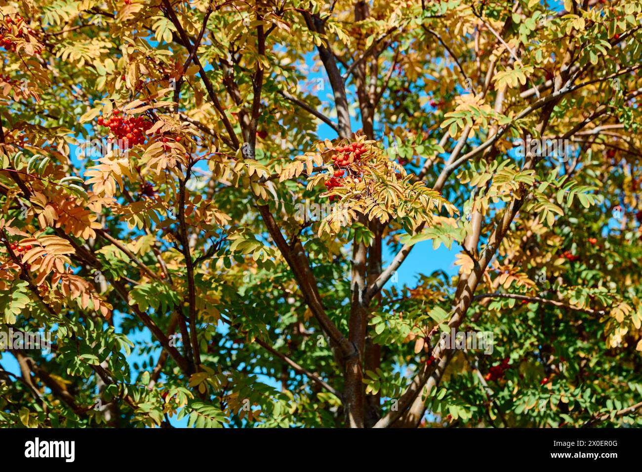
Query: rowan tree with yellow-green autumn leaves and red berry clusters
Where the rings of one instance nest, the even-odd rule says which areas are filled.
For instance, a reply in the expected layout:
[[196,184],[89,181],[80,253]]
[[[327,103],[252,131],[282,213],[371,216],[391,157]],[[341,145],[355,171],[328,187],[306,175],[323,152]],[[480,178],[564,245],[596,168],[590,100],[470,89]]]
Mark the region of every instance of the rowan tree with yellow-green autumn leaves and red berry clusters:
[[641,2],[0,5],[0,425],[641,424]]

